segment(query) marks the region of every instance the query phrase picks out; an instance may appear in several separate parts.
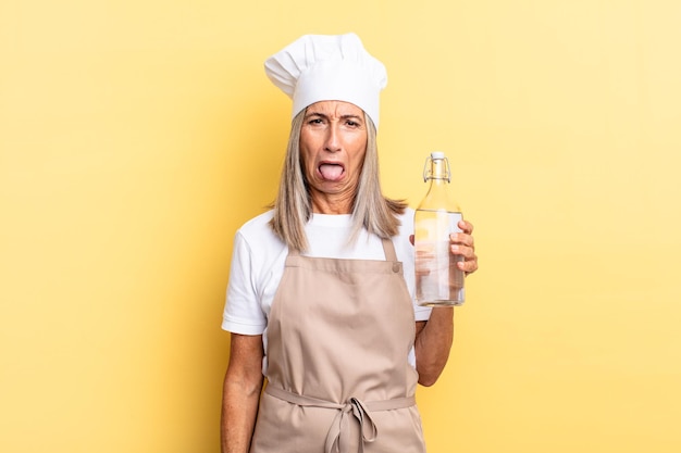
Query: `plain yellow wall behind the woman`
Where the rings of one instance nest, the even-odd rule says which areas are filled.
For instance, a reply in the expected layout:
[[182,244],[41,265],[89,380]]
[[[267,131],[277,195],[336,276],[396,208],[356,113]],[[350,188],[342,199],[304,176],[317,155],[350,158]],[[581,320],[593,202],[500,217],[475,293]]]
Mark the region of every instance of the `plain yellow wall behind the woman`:
[[0,451],[216,452],[236,228],[290,103],[262,62],[354,30],[385,192],[443,150],[480,272],[430,453],[681,451],[681,3],[0,3]]

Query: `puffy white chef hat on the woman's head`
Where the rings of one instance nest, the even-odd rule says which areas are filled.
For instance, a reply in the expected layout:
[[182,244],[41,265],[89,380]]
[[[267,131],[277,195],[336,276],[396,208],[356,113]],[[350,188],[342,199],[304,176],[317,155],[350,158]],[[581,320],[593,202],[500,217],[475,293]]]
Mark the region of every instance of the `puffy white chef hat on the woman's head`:
[[264,62],[270,80],[293,99],[293,115],[319,101],[345,101],[362,109],[379,127],[379,93],[385,66],[354,33],[305,35]]

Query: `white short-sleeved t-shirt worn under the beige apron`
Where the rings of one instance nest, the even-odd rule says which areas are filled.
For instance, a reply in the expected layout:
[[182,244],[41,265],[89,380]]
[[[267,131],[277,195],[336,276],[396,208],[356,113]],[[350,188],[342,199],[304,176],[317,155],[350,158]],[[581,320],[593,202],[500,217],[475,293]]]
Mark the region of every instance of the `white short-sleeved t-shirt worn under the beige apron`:
[[[267,327],[270,309],[288,255],[287,246],[269,225],[272,211],[268,211],[244,224],[236,232],[234,252],[227,286],[227,301],[222,328],[242,335],[261,335],[267,349]],[[403,269],[411,300],[414,300],[413,210],[408,209],[399,217],[399,234],[393,238],[397,260]],[[306,225],[309,251],[306,256],[385,260],[381,239],[362,230],[357,241],[348,246],[352,219],[348,215],[313,214]],[[426,320],[431,309],[413,305],[416,320]],[[413,365],[413,350],[409,354]],[[267,361],[263,363],[267,370]]]

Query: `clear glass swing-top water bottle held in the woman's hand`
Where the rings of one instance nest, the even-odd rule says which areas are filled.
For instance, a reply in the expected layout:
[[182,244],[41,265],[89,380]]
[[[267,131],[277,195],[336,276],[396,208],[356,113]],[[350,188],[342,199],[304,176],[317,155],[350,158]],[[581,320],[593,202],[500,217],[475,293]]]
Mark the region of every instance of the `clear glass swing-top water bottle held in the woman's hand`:
[[423,180],[428,193],[414,214],[417,303],[430,306],[461,305],[465,300],[463,270],[453,255],[449,235],[460,232],[461,210],[448,194],[451,181],[444,152],[432,152],[425,160]]

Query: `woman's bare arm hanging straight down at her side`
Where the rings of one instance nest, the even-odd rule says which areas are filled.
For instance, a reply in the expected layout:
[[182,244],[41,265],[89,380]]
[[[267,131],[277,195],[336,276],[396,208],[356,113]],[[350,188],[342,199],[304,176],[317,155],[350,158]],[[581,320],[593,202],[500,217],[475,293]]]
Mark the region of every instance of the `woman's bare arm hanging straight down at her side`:
[[262,336],[232,334],[222,399],[222,453],[247,453],[262,390]]

